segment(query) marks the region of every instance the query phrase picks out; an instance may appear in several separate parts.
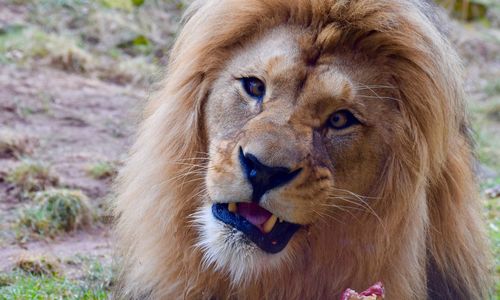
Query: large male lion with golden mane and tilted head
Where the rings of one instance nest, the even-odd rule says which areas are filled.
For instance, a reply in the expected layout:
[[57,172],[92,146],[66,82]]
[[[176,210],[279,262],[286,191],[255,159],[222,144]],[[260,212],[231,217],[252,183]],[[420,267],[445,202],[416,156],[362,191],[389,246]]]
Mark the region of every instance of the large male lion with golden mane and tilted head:
[[194,1],[119,177],[115,297],[487,297],[439,20],[411,0]]

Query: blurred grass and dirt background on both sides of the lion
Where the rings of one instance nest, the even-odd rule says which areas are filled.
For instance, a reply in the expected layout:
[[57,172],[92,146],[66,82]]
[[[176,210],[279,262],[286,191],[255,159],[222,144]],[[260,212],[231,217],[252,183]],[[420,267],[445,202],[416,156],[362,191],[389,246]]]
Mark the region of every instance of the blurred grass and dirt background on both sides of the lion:
[[[113,178],[188,1],[0,0],[0,299],[107,299]],[[500,0],[438,1],[500,295]]]

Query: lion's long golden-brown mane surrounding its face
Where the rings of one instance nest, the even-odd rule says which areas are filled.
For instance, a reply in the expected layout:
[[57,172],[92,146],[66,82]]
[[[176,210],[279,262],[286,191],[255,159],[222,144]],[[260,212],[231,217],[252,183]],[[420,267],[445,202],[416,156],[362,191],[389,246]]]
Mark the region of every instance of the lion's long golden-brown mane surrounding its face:
[[393,272],[395,279],[384,282],[388,299],[425,298],[428,289],[436,288],[433,281],[443,276],[456,299],[484,299],[489,254],[467,136],[462,71],[455,51],[425,13],[431,10],[409,0],[192,4],[163,88],[145,110],[120,175],[115,214],[123,262],[116,297],[243,297],[229,278],[202,267],[202,253],[194,247],[197,231],[190,216],[204,191],[203,166],[196,165],[196,158],[207,152],[203,105],[233,47],[256,32],[292,25],[317,33],[312,57],[314,51],[338,45],[385,57],[406,123],[394,128],[395,144],[378,182],[381,200],[373,208],[383,212],[381,224],[351,229],[359,240],[373,242],[373,257],[367,261],[353,246],[352,261],[365,264],[353,264],[346,278],[302,278],[298,287],[290,284],[292,278],[278,275],[266,290],[255,285],[245,296],[281,298],[279,287],[286,285],[297,296],[314,298],[325,282],[341,285],[351,278],[354,284],[363,274]]

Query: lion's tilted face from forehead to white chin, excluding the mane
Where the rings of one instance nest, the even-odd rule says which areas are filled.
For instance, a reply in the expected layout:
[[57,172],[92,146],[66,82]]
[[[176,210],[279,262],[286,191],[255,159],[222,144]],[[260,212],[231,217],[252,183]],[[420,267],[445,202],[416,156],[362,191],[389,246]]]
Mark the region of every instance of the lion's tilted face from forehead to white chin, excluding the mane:
[[342,48],[319,55],[311,41],[290,27],[258,35],[232,50],[210,90],[199,245],[233,280],[314,247],[307,235],[327,234],[350,209],[370,209],[397,143],[384,61]]

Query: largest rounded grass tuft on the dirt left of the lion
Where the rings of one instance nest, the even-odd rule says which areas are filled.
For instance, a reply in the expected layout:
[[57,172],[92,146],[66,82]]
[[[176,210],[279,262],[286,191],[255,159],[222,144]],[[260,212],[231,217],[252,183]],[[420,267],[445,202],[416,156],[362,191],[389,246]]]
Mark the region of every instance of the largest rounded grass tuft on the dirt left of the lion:
[[81,191],[52,189],[37,192],[33,201],[34,205],[21,211],[17,223],[18,239],[26,239],[31,233],[54,237],[91,224],[92,210]]

